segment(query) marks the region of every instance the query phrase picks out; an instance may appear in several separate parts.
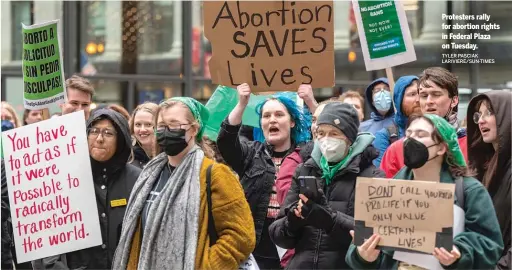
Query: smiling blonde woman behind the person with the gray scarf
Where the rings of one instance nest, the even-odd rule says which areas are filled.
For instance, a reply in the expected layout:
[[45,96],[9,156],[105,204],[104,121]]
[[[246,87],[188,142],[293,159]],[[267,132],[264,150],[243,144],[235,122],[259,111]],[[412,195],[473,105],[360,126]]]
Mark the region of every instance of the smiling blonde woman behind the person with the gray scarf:
[[158,105],[147,102],[137,106],[130,118],[133,154],[129,162],[140,169],[159,152],[154,132],[157,110]]

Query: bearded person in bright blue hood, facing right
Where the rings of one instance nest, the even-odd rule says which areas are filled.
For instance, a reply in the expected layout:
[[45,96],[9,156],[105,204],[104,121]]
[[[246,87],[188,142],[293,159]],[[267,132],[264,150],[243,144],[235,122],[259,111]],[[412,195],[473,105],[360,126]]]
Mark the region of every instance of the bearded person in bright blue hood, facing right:
[[413,114],[421,114],[418,80],[417,76],[410,75],[400,77],[395,83],[393,102],[396,113],[393,124],[375,133],[373,141],[373,146],[379,150],[379,156],[373,160],[373,165],[376,167],[380,166],[382,156],[388,147],[405,136],[407,119]]

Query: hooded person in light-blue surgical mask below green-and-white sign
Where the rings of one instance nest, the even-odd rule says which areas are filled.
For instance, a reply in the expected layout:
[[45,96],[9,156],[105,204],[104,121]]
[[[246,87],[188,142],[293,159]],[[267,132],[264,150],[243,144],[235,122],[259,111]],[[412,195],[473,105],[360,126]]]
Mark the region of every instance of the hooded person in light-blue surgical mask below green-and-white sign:
[[393,109],[388,79],[379,78],[373,81],[366,88],[365,94],[372,113],[370,119],[361,123],[359,131],[370,132],[375,135],[377,131],[393,124],[395,110]]

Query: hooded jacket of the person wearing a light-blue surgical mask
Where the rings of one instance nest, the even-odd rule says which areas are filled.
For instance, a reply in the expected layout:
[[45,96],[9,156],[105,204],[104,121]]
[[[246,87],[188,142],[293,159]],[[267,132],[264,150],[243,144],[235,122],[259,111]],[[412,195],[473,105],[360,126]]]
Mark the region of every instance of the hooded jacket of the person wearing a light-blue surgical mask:
[[373,87],[379,83],[385,83],[389,85],[387,78],[379,78],[370,83],[370,85],[368,85],[366,88],[366,100],[368,101],[372,112],[370,114],[371,119],[362,122],[359,126],[360,132],[370,132],[371,134],[375,134],[377,131],[393,124],[393,116],[395,114],[393,106],[391,106],[385,116],[382,116],[377,108],[375,108],[375,105],[373,105]]

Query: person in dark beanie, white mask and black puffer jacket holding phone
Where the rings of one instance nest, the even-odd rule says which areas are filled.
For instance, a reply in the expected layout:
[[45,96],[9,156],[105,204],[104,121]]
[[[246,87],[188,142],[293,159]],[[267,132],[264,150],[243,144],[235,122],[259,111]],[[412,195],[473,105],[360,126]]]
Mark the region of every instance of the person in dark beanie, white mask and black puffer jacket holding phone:
[[[354,227],[356,179],[384,173],[372,164],[378,156],[375,137],[358,134],[359,116],[352,105],[325,105],[316,125],[312,157],[296,169],[269,233],[276,245],[295,249],[288,269],[348,269],[344,255]],[[306,182],[311,192],[302,188]]]

